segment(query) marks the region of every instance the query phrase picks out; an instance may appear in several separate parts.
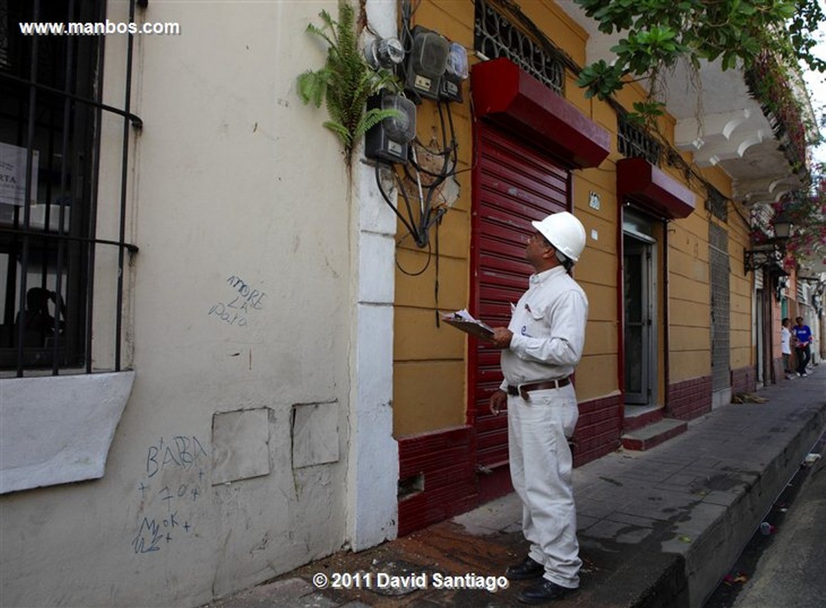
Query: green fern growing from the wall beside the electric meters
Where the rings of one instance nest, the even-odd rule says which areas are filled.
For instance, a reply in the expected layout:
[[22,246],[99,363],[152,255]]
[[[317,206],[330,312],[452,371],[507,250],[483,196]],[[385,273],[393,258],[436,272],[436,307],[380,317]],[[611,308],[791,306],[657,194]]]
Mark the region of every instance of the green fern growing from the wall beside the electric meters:
[[341,140],[349,164],[358,138],[385,118],[398,115],[396,110],[367,110],[368,97],[385,88],[398,91],[398,81],[391,72],[375,69],[364,59],[358,48],[354,9],[347,2],[339,2],[339,21],[326,11],[319,16],[324,26],[310,24],[307,31],[325,40],[327,60],[323,68],[298,77],[298,96],[316,107],[325,101],[330,120],[324,126]]

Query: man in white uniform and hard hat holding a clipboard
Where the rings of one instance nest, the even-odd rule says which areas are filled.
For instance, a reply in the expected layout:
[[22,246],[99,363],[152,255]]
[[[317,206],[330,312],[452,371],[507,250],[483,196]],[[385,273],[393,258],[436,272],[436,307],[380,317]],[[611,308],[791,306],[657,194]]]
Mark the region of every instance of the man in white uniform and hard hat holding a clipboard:
[[588,300],[568,276],[585,247],[582,223],[567,211],[531,222],[525,246],[534,266],[529,289],[507,328],[495,328],[505,379],[491,395],[491,412],[508,411],[510,478],[522,501],[528,556],[507,569],[511,580],[542,577],[520,592],[526,604],[562,599],[579,587],[577,511],[572,455],[567,443],[577,424],[570,376],[582,357]]

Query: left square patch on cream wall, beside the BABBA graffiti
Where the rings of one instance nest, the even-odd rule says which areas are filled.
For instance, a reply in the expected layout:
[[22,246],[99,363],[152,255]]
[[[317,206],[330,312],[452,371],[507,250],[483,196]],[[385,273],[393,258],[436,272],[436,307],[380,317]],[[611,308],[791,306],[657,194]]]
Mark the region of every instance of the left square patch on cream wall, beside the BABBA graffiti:
[[269,474],[268,410],[212,416],[212,485]]

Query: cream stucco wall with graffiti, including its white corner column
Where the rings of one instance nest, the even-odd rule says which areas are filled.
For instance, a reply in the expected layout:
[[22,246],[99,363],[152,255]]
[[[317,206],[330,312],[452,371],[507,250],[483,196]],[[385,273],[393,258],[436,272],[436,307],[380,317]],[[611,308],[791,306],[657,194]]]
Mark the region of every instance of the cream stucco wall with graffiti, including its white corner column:
[[198,606],[395,535],[394,226],[295,92],[335,7],[140,12],[182,33],[135,46],[135,381],[102,478],[0,497],[4,605]]

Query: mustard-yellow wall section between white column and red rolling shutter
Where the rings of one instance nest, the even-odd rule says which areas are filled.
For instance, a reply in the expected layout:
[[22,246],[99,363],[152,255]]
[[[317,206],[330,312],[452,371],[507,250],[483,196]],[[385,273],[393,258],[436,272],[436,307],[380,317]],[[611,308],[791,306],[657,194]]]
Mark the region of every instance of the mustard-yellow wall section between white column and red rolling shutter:
[[[421,2],[415,24],[438,30],[466,48],[473,48],[472,2]],[[444,323],[436,327],[436,309],[453,311],[468,306],[470,280],[470,209],[472,125],[469,83],[464,83],[462,104],[451,104],[458,143],[459,197],[444,215],[439,227],[439,294],[436,301],[437,233],[431,230],[431,251],[402,239],[406,229],[398,224],[396,262],[409,276],[396,269],[396,299],[393,342],[393,434],[416,435],[465,423],[467,408],[467,339]],[[434,103],[424,101],[416,112],[419,139],[441,147],[439,113]],[[435,139],[434,139],[435,138]],[[430,260],[429,260],[430,257]]]

